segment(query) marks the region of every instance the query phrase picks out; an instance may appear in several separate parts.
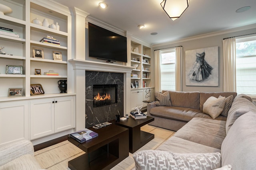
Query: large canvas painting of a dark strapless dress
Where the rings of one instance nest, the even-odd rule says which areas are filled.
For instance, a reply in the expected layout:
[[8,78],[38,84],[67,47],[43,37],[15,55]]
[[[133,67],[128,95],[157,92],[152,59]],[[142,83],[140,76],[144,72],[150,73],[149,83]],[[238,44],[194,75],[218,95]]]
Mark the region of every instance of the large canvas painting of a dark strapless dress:
[[185,51],[186,86],[218,86],[218,47]]

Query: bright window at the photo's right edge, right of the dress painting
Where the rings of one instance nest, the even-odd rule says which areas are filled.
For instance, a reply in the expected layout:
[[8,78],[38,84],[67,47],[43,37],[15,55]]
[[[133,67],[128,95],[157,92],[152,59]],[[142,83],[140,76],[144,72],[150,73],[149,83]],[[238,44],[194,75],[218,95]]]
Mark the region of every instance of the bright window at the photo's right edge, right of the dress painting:
[[256,36],[236,39],[236,92],[256,96]]

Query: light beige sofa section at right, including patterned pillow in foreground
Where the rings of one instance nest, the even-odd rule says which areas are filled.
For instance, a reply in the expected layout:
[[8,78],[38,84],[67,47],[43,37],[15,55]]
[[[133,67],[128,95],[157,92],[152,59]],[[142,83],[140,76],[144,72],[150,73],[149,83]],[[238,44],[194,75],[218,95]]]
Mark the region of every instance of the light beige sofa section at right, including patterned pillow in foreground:
[[194,117],[158,149],[134,153],[134,160],[137,170],[255,170],[255,141],[256,106],[239,94],[226,121]]

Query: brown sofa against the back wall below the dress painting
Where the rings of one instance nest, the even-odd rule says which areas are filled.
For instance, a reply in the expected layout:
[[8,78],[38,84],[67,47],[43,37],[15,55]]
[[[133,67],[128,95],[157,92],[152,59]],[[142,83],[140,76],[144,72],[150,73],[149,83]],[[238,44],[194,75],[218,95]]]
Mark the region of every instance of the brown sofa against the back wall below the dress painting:
[[[163,91],[164,93],[166,91]],[[210,115],[203,113],[203,104],[210,96],[218,98],[220,95],[228,97],[236,92],[169,92],[172,106],[156,106],[156,102],[147,106],[148,116],[155,118],[150,125],[162,127],[172,131],[178,131],[194,117],[212,119]],[[216,120],[226,120],[220,115]]]

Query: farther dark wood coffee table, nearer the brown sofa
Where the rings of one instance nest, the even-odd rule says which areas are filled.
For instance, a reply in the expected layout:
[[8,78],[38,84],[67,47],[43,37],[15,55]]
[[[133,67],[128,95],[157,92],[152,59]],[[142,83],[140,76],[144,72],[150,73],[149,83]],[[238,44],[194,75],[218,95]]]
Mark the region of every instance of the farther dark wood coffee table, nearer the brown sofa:
[[150,116],[147,116],[146,119],[133,119],[129,116],[129,119],[125,121],[120,120],[119,122],[116,122],[113,120],[111,122],[129,129],[129,152],[134,153],[136,150],[140,149],[146,143],[154,139],[154,134],[140,130],[140,127],[154,121],[154,119],[154,117]]

